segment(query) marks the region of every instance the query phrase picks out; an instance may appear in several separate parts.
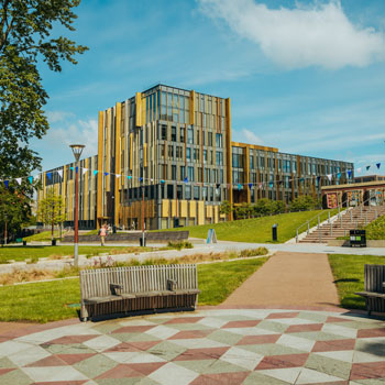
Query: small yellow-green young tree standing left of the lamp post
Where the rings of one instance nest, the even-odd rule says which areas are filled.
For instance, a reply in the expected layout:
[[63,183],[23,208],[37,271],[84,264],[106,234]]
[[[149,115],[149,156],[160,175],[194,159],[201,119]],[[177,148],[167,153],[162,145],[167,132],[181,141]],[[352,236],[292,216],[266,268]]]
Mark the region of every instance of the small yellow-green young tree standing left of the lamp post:
[[62,224],[66,220],[63,198],[50,190],[38,202],[37,218],[44,224],[51,224],[51,239],[54,240],[55,224]]

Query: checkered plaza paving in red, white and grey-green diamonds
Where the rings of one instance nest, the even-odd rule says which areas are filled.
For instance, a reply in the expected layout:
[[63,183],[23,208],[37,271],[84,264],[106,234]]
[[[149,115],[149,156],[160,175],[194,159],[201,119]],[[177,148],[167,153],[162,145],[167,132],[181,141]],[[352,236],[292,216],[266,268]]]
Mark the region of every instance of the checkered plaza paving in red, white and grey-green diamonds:
[[385,322],[339,312],[199,310],[0,341],[1,385],[385,384]]

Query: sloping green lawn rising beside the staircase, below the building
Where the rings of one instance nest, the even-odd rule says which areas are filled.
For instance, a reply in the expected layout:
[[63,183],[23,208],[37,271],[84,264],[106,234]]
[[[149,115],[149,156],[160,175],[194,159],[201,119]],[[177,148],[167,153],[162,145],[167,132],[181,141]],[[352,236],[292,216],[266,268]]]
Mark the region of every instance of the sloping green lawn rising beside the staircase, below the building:
[[[336,210],[332,211],[331,216],[333,216],[336,212]],[[271,243],[272,227],[274,223],[278,223],[278,242],[284,243],[296,237],[296,229],[299,226],[318,213],[321,213],[321,221],[328,218],[328,211],[312,210],[172,230],[188,230],[190,232],[190,237],[206,238],[209,229],[216,229],[217,238],[222,241]],[[310,222],[310,227],[316,224],[317,220]],[[302,227],[301,231],[305,231],[306,229],[306,227]]]

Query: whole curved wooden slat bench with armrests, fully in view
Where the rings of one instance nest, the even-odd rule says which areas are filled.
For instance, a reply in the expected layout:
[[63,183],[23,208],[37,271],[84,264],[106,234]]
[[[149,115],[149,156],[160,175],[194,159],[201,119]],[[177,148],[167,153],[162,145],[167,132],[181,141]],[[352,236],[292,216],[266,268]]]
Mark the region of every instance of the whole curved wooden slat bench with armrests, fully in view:
[[138,310],[195,309],[197,265],[148,265],[80,271],[80,319]]

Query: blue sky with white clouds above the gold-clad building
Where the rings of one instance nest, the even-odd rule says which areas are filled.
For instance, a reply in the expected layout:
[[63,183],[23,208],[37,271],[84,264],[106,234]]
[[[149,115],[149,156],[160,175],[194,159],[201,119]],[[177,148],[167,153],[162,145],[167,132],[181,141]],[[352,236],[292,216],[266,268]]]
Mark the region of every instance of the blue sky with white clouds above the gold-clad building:
[[82,0],[77,14],[67,35],[90,50],[41,67],[44,169],[73,161],[69,143],[96,154],[98,111],[162,82],[230,97],[234,141],[385,174],[385,1]]

